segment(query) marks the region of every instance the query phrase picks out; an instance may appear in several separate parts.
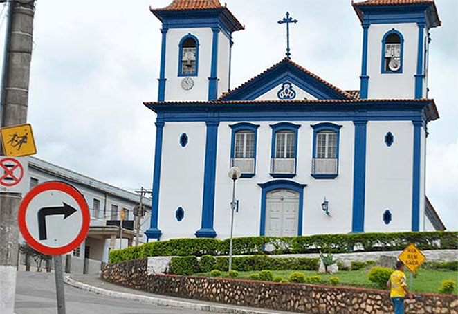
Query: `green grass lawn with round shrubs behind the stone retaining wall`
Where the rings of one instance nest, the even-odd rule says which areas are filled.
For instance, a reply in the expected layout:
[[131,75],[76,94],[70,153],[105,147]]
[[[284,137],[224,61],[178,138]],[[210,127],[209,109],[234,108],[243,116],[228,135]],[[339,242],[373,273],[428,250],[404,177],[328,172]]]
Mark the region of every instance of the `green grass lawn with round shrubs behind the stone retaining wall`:
[[[273,275],[280,276],[283,278],[288,278],[288,276],[297,270],[273,270]],[[329,284],[329,278],[338,277],[340,279],[340,285],[345,286],[360,286],[364,288],[376,288],[378,285],[372,283],[367,279],[368,270],[341,270],[333,275],[322,275],[316,271],[309,270],[300,270],[301,273],[304,273],[306,276],[320,275],[321,280],[325,281],[324,284]],[[226,277],[228,273],[222,272],[223,276]],[[238,279],[250,279],[250,275],[257,274],[259,271],[251,272],[239,272]],[[210,273],[200,273],[196,275],[210,276]],[[407,284],[410,286],[410,273],[406,270],[405,275],[407,275]],[[457,282],[458,272],[454,271],[441,271],[441,270],[423,270],[419,269],[416,278],[414,278],[414,288],[410,288],[413,292],[422,292],[422,293],[439,293],[439,288],[441,283],[444,280],[453,279]],[[458,294],[457,287],[455,286],[454,294]]]

